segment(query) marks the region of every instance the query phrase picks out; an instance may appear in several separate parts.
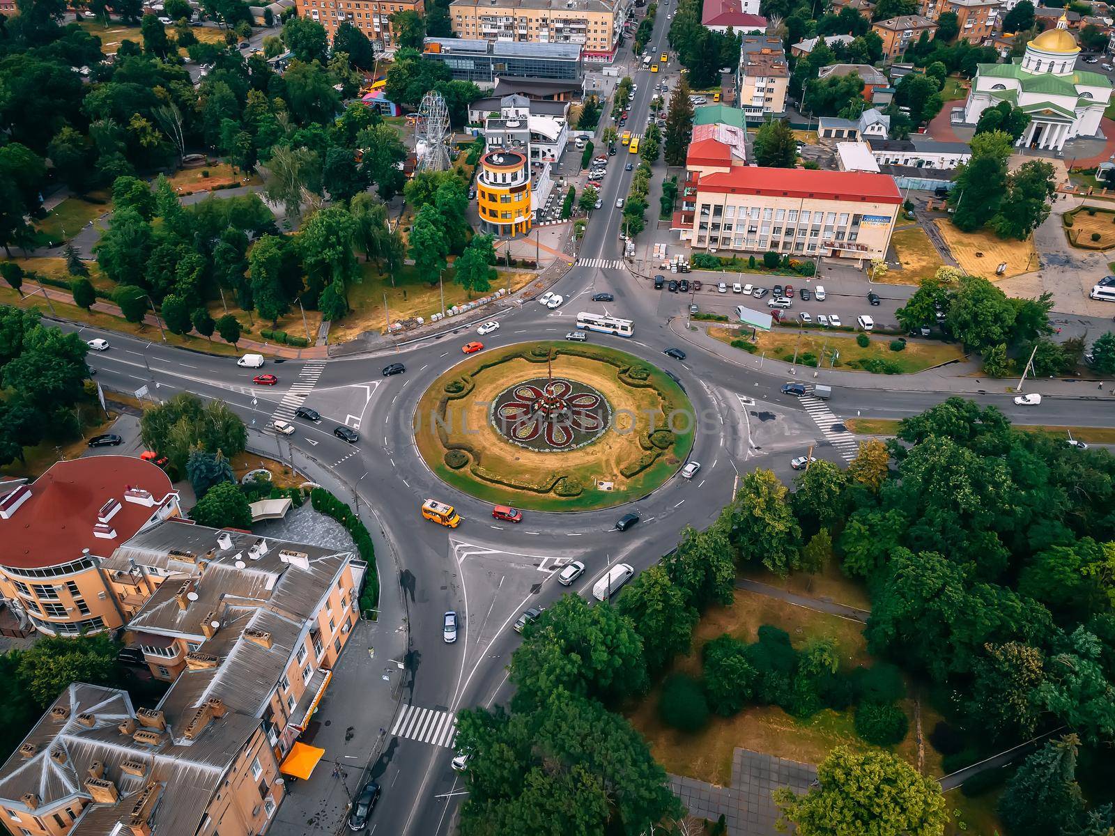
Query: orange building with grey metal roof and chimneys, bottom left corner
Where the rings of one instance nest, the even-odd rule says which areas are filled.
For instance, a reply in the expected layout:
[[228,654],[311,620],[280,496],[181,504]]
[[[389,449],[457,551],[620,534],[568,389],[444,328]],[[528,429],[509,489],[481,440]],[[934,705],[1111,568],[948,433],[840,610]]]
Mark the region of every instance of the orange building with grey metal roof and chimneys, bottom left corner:
[[283,799],[258,717],[206,698],[180,715],[75,682],[0,766],[12,836],[256,836]]

